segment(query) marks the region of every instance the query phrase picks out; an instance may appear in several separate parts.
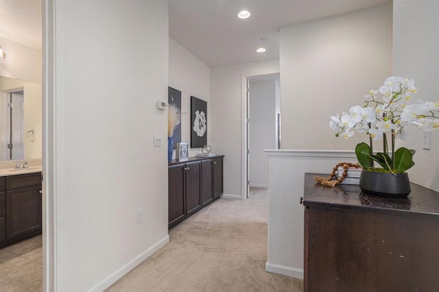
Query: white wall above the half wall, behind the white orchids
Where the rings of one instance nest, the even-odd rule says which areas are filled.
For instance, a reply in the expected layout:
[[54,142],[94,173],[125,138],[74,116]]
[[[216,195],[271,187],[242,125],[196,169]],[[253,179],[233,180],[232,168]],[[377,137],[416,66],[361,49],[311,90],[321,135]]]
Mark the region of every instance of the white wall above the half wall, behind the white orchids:
[[354,149],[366,135],[335,138],[330,117],[391,75],[392,6],[282,27],[280,42],[281,148]]

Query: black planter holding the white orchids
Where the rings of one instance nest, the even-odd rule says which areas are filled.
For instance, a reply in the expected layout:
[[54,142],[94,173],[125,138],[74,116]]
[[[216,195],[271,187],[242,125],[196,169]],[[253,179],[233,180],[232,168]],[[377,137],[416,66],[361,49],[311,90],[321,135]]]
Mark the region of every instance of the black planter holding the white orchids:
[[407,197],[412,191],[407,173],[377,173],[361,171],[359,188],[368,195],[379,197]]

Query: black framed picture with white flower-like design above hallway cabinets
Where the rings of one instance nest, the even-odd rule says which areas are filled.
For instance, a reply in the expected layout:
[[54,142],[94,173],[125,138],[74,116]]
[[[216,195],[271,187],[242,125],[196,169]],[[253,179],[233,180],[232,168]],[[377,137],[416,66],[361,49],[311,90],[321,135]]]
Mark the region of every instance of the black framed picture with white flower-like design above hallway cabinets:
[[191,148],[207,144],[207,102],[191,96]]

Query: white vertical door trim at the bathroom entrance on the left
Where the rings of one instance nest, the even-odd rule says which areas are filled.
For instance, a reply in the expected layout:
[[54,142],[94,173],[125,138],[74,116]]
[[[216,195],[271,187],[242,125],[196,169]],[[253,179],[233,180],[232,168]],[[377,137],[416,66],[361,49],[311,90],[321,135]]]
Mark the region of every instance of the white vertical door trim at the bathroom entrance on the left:
[[64,0],[42,0],[43,12],[43,291],[57,291],[57,197],[64,175]]

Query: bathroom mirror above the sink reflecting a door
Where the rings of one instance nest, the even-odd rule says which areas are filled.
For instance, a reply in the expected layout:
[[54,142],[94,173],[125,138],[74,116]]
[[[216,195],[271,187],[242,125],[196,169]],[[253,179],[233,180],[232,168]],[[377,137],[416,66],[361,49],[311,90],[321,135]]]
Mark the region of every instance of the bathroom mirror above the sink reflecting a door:
[[42,87],[0,76],[0,160],[41,158]]

